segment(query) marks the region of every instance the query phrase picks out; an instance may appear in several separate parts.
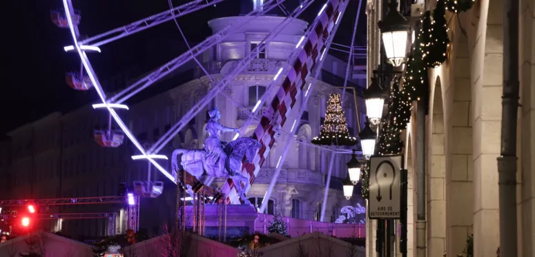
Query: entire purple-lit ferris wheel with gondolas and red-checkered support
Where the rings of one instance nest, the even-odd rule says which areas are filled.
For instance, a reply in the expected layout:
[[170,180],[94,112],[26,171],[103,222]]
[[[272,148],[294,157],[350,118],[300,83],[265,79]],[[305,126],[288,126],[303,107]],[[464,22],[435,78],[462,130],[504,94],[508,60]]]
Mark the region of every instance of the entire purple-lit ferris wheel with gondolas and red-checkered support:
[[[299,17],[304,10],[307,10],[314,0],[300,0],[300,4],[297,8],[295,8],[295,10],[286,11],[286,18],[271,32],[269,32],[269,34],[267,34],[266,37],[264,37],[264,39],[262,39],[262,41],[258,43],[253,50],[251,50],[251,54],[246,54],[243,59],[237,61],[237,65],[233,67],[233,70],[228,72],[228,74],[218,81],[215,81],[211,78],[210,74],[208,74],[201,63],[197,60],[197,56],[202,54],[202,52],[213,48],[213,46],[217,45],[217,43],[222,42],[226,37],[228,37],[228,35],[233,33],[245,23],[251,22],[253,19],[265,15],[274,8],[284,9],[284,7],[282,7],[282,3],[292,0],[268,0],[264,3],[260,1],[260,5],[255,5],[255,10],[243,15],[239,19],[236,19],[233,23],[226,26],[226,28],[223,28],[197,45],[189,45],[181,30],[180,32],[184,38],[184,41],[186,41],[189,49],[188,51],[177,56],[171,61],[164,63],[159,68],[155,69],[154,72],[151,72],[142,79],[139,79],[139,81],[129,85],[121,92],[117,92],[117,94],[113,95],[106,94],[105,89],[102,88],[101,83],[97,78],[97,74],[95,74],[93,66],[88,58],[88,56],[90,56],[89,54],[106,54],[106,44],[108,43],[126,38],[132,34],[142,32],[143,30],[147,30],[148,28],[152,28],[167,21],[175,21],[176,23],[176,19],[179,17],[191,15],[197,10],[215,6],[217,3],[220,3],[224,0],[195,0],[177,7],[173,7],[171,0],[168,0],[170,6],[169,10],[154,14],[150,17],[135,21],[133,23],[129,23],[128,25],[124,25],[120,28],[115,28],[108,32],[86,38],[80,37],[78,29],[78,25],[82,21],[81,12],[73,8],[71,0],[62,1],[64,10],[53,10],[51,12],[51,19],[59,28],[65,28],[72,35],[72,45],[66,46],[64,50],[66,50],[66,52],[75,52],[79,55],[81,60],[80,70],[66,74],[66,82],[74,90],[91,90],[94,88],[99,95],[101,103],[95,103],[93,107],[98,111],[104,111],[109,114],[108,126],[102,128],[101,130],[95,131],[95,141],[97,141],[97,143],[99,143],[99,145],[102,147],[118,147],[124,143],[124,138],[126,137],[139,151],[138,155],[132,156],[133,160],[148,161],[148,163],[150,163],[149,169],[150,167],[154,167],[174,183],[186,183],[191,186],[198,187],[199,181],[197,181],[193,176],[187,176],[185,180],[181,181],[180,178],[177,178],[175,170],[165,169],[159,163],[159,160],[168,160],[170,156],[159,154],[159,152],[177,135],[178,132],[180,132],[188,124],[188,121],[197,116],[197,114],[204,107],[206,107],[206,105],[208,105],[208,103],[210,103],[215,96],[222,94],[235,103],[235,105],[237,105],[237,107],[239,107],[244,114],[249,116],[249,118],[246,119],[244,124],[240,127],[240,132],[235,134],[234,139],[240,137],[240,134],[244,134],[246,127],[256,124],[257,127],[253,133],[253,138],[260,142],[261,147],[260,150],[257,151],[257,154],[255,154],[255,158],[251,161],[251,163],[244,163],[243,165],[241,174],[247,178],[247,181],[234,183],[234,181],[229,179],[222,187],[220,187],[220,190],[209,187],[211,181],[208,181],[208,183],[205,183],[208,185],[205,185],[205,188],[208,190],[208,194],[213,194],[213,201],[215,202],[240,203],[240,200],[243,201],[244,199],[240,199],[238,192],[240,189],[244,190],[245,192],[249,190],[251,184],[254,182],[255,175],[257,175],[260,167],[262,167],[264,164],[266,156],[270,152],[269,150],[271,147],[273,147],[275,141],[282,140],[284,142],[282,145],[284,145],[285,148],[280,156],[276,156],[276,158],[278,158],[278,163],[276,165],[275,174],[264,199],[269,198],[269,195],[271,195],[282,167],[280,164],[284,163],[284,158],[289,150],[289,145],[291,145],[291,142],[295,140],[293,137],[293,134],[297,132],[295,128],[299,127],[300,125],[300,119],[289,120],[289,117],[300,117],[305,111],[307,102],[311,96],[309,92],[313,90],[315,81],[318,79],[318,74],[321,73],[320,69],[322,68],[322,63],[324,61],[324,54],[326,54],[326,52],[329,50],[334,34],[338,30],[338,25],[340,25],[339,21],[342,19],[350,0],[315,0],[325,1],[325,3],[319,10],[315,20],[311,23],[311,25],[309,25],[309,28],[304,32],[301,39],[295,45],[295,49],[290,54],[289,58],[286,59],[287,64],[278,70],[277,74],[273,78],[273,81],[271,81],[266,89],[266,92],[268,92],[269,88],[273,88],[275,89],[273,92],[276,93],[264,94],[257,101],[252,111],[247,110],[245,107],[234,101],[230,96],[226,95],[222,89],[231,83],[237,74],[240,74],[240,72],[244,71],[247,65],[251,63],[251,61],[259,52],[262,52],[264,48],[266,48],[266,42],[271,41],[275,36],[280,34],[284,27],[293,19]],[[358,9],[360,12],[362,0],[358,1]],[[355,28],[353,29],[353,39],[355,38],[357,21],[358,14],[356,17]],[[178,24],[177,27],[179,28]],[[351,42],[351,49],[353,49],[353,41]],[[195,61],[198,65],[200,65],[200,68],[206,73],[206,76],[213,81],[213,88],[208,90],[206,95],[200,99],[199,103],[196,103],[193,107],[191,107],[191,110],[186,112],[186,114],[182,116],[182,118],[179,119],[179,121],[154,144],[143,145],[137,140],[132,132],[130,132],[128,127],[121,119],[121,112],[128,112],[128,105],[125,104],[126,101],[139,92],[142,92],[142,90],[154,85],[157,83],[157,81],[159,81],[159,79],[171,74],[188,61]],[[349,65],[347,65],[346,70],[346,83],[348,73]],[[306,79],[311,76],[311,74],[315,74],[315,77],[311,83],[307,83]],[[301,94],[302,92],[303,94]],[[304,98],[302,101],[296,101],[300,95],[304,95]],[[264,103],[271,104],[268,105],[266,110],[264,110],[263,114],[259,118],[257,116],[257,112],[259,112],[261,109],[259,106],[263,105]],[[295,105],[296,103],[300,104]],[[117,129],[113,128],[115,124],[118,126]],[[340,150],[330,146],[313,145],[310,142],[305,141],[300,141],[300,143],[311,145],[313,147],[320,147],[333,153],[346,154],[351,152],[349,150]],[[331,174],[332,167],[333,158],[331,158],[329,176]],[[144,184],[137,181],[137,187],[143,188],[143,190],[140,190],[142,192],[142,196],[156,197],[161,194],[163,183],[161,181],[150,183],[150,172],[148,174],[149,182]],[[328,186],[329,185],[327,185],[327,187]],[[328,190],[326,190],[326,192],[327,191]],[[263,212],[267,205],[267,201],[264,202],[265,203],[262,203],[262,207],[260,208],[261,212]]]

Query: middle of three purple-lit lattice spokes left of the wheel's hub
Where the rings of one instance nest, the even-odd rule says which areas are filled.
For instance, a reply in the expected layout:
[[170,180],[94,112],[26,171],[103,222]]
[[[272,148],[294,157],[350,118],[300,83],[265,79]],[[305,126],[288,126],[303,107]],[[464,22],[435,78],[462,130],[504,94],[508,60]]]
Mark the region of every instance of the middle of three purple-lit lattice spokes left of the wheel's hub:
[[[226,26],[223,30],[220,32],[217,32],[217,34],[213,34],[211,37],[208,37],[206,40],[202,41],[201,43],[193,46],[191,50],[188,50],[184,52],[184,54],[181,54],[177,58],[168,61],[168,63],[165,63],[160,68],[158,68],[155,72],[152,72],[145,76],[143,79],[140,79],[139,81],[133,83],[133,85],[128,86],[125,90],[122,90],[115,96],[112,96],[108,102],[109,103],[123,103],[124,101],[130,99],[130,97],[134,96],[135,94],[139,93],[140,91],[144,90],[150,85],[153,85],[155,82],[157,82],[159,79],[162,79],[167,74],[173,72],[180,66],[184,65],[184,63],[191,61],[193,57],[201,54],[202,52],[205,52],[206,50],[209,50],[217,43],[220,43],[223,41],[228,35],[232,34],[235,30],[238,28],[241,28],[243,25],[245,25],[247,22],[250,22],[253,19],[256,19],[257,17],[260,17],[269,10],[275,8],[276,6],[280,5],[286,0],[270,0],[264,3],[263,6],[249,12],[243,17],[240,17],[240,19],[236,19],[233,23]],[[303,9],[303,8],[302,8]],[[254,17],[252,19],[248,19],[254,14]],[[127,94],[128,93],[128,94]],[[126,94],[126,96],[125,96]],[[119,97],[121,97],[119,99]],[[119,100],[117,100],[119,99]]]

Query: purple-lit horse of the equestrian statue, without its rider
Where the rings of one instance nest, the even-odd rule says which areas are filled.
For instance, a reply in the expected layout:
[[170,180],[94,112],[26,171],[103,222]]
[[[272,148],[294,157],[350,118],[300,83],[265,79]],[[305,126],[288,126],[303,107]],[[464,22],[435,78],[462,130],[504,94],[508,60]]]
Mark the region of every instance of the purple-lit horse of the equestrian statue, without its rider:
[[[188,172],[203,184],[210,177],[231,178],[234,183],[249,184],[249,179],[240,174],[242,171],[242,160],[245,156],[247,162],[252,162],[257,150],[261,147],[260,142],[251,137],[242,137],[222,145],[224,145],[223,150],[228,157],[217,158],[216,163],[206,161],[210,160],[210,154],[203,149],[174,150],[171,167],[173,171],[184,170]],[[219,165],[221,161],[225,162],[224,165]],[[244,203],[250,204],[245,197],[242,187],[236,188]],[[191,185],[187,185],[186,189],[193,196]]]

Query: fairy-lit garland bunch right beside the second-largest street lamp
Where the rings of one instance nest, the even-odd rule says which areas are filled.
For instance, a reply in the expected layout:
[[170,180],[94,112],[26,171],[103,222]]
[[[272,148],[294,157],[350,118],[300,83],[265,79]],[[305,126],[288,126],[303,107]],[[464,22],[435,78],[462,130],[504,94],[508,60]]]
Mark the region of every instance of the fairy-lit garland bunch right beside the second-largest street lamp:
[[388,103],[391,126],[401,132],[407,127],[411,119],[412,102],[409,100],[405,88],[400,89],[400,79],[396,77],[390,90]]

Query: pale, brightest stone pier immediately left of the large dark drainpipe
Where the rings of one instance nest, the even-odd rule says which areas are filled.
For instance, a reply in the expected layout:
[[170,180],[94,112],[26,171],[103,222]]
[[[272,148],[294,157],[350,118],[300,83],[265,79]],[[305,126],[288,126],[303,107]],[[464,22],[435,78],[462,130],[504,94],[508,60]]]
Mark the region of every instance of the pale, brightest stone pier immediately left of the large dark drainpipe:
[[[465,180],[471,186],[473,195],[471,221],[474,225],[474,256],[493,256],[497,247],[489,246],[499,245],[500,234],[498,225],[489,224],[499,223],[496,158],[500,154],[504,0],[478,1],[479,8],[474,8],[471,15],[471,24],[475,26],[476,33],[468,35],[470,41],[474,41],[474,50],[471,51],[470,60],[471,90],[467,90],[470,91],[468,95],[471,111],[471,115],[467,116],[467,129],[471,131],[471,138],[466,139],[472,144],[468,156],[469,171]],[[457,90],[458,88],[454,90],[456,96]],[[452,117],[454,116],[456,114],[452,114]],[[457,127],[458,130],[460,126]],[[455,130],[456,127],[453,128],[451,136],[458,137]],[[454,148],[453,144],[451,148]],[[455,172],[455,169],[452,169],[452,172]],[[471,230],[467,228],[467,234],[471,234]]]

